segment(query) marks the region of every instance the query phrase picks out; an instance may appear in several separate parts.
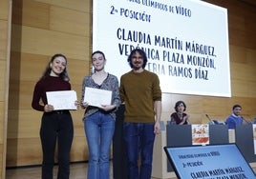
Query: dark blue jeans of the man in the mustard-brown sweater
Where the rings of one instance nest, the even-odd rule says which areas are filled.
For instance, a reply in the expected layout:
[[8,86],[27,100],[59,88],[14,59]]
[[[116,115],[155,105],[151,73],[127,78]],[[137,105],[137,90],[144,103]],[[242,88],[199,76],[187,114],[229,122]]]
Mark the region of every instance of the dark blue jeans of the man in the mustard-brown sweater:
[[150,179],[155,141],[154,123],[125,122],[123,136],[128,160],[128,178]]

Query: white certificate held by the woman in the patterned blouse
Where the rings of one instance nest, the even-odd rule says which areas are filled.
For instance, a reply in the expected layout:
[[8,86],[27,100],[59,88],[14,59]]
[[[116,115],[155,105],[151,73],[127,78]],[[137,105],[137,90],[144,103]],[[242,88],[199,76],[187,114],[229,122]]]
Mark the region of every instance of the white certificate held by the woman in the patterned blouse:
[[102,105],[111,105],[111,99],[111,90],[85,88],[84,102],[87,102],[90,106],[101,107]]

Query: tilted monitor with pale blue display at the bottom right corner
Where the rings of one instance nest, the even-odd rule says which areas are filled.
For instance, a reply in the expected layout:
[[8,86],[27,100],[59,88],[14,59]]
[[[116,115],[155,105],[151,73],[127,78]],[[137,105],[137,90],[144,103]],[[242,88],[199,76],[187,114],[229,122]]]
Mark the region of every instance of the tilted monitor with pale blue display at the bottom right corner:
[[253,169],[236,144],[164,147],[178,178],[253,179]]

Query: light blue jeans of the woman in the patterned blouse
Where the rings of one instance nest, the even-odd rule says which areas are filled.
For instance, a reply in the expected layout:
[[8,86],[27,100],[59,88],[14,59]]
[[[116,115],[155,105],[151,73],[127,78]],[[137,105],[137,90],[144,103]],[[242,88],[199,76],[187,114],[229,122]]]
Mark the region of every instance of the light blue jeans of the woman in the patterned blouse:
[[87,179],[108,179],[115,120],[110,114],[97,111],[86,117],[84,129],[89,148]]

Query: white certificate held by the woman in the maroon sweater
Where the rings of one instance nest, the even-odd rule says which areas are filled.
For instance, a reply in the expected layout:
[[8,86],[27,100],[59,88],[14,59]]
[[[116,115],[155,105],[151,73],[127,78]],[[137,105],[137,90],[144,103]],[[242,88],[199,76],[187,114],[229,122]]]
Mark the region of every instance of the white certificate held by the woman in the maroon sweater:
[[75,90],[58,90],[46,92],[49,105],[53,105],[54,110],[77,109]]

